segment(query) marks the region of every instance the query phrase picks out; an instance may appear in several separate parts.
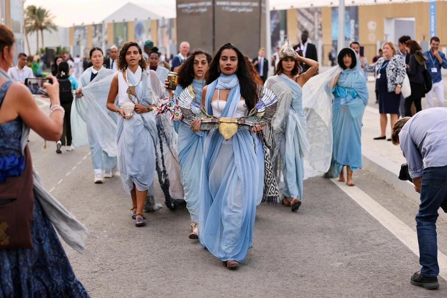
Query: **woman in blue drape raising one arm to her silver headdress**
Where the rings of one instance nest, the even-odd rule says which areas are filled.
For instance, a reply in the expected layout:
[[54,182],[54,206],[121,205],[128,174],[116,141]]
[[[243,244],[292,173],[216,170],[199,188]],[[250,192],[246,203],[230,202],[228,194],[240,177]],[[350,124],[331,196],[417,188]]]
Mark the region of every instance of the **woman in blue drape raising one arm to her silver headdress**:
[[[297,211],[301,206],[304,180],[304,154],[310,145],[306,139],[306,116],[302,108],[302,86],[318,70],[318,62],[299,56],[286,41],[280,52],[275,76],[265,86],[278,98],[278,110],[272,119],[274,149],[272,163],[277,172],[279,187],[283,187],[282,204]],[[299,64],[310,66],[299,72]],[[282,171],[281,171],[282,167]],[[284,183],[281,183],[283,176]]]

